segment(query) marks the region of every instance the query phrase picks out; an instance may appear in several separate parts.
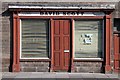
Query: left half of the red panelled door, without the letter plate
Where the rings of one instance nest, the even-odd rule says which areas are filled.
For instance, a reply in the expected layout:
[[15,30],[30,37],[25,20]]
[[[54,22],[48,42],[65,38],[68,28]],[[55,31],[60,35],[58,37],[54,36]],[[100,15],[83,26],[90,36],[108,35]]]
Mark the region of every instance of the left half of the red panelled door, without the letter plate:
[[60,21],[54,21],[53,26],[53,55],[54,55],[54,69],[61,68],[61,40],[60,40]]

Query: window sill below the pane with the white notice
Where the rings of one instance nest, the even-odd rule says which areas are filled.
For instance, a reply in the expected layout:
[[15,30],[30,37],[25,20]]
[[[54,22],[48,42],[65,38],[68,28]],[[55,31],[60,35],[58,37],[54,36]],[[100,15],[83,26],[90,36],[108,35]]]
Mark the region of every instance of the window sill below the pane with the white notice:
[[83,62],[83,61],[85,61],[85,62],[89,62],[89,61],[91,61],[91,62],[102,62],[104,60],[103,60],[103,58],[74,58],[73,61],[74,62]]

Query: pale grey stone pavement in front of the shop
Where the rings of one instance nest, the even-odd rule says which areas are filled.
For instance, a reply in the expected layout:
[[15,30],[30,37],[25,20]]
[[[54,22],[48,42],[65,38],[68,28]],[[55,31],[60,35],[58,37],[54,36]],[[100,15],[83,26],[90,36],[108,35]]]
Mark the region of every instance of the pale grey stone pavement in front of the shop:
[[116,74],[63,72],[3,72],[2,80],[120,80]]

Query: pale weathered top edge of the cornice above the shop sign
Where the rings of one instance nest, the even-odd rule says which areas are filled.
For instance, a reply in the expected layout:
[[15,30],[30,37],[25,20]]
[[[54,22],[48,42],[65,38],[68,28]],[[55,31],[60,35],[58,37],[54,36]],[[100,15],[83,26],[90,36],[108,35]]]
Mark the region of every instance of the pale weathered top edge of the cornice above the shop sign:
[[115,4],[101,6],[39,6],[39,5],[9,5],[10,9],[115,9]]

